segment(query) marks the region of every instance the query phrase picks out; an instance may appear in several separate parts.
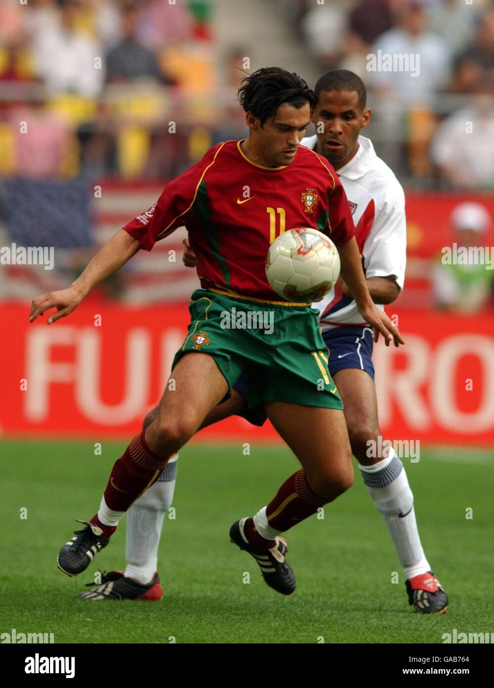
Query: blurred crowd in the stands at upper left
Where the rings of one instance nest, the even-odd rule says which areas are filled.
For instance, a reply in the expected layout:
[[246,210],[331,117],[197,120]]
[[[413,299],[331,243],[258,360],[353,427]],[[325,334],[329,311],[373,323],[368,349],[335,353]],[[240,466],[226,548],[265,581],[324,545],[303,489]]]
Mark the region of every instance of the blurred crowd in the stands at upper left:
[[0,174],[180,173],[213,136],[210,17],[208,0],[3,0]]

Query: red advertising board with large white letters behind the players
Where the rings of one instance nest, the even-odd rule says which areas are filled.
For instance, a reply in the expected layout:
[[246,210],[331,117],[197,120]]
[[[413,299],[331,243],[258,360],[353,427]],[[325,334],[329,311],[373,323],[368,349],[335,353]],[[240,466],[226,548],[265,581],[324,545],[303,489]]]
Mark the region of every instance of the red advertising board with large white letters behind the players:
[[[406,345],[376,346],[383,436],[494,444],[494,314],[395,310]],[[129,438],[164,389],[184,338],[186,304],[124,308],[85,303],[54,325],[0,305],[0,427],[6,437]],[[276,440],[232,418],[202,438]]]

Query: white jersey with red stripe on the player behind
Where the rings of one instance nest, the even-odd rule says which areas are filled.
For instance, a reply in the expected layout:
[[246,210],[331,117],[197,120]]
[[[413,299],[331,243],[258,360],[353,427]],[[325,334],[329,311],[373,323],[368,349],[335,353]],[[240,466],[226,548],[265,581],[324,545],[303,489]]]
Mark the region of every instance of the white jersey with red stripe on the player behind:
[[[301,144],[315,149],[316,138],[304,138]],[[371,140],[359,136],[358,144],[352,160],[341,167],[337,174],[350,203],[365,277],[394,275],[402,289],[407,252],[405,194],[394,173],[376,155]],[[343,294],[338,286],[312,306],[319,310],[319,323],[323,331],[345,325],[366,324],[354,299]],[[378,308],[384,310],[381,304],[378,304]]]

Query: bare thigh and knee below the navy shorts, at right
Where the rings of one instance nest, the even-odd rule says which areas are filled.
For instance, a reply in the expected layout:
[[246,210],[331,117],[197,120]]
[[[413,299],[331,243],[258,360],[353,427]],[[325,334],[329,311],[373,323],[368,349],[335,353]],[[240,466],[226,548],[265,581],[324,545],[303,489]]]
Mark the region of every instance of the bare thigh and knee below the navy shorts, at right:
[[358,368],[339,370],[333,380],[343,400],[352,451],[365,465],[367,442],[375,441],[379,434],[376,385],[365,370]]

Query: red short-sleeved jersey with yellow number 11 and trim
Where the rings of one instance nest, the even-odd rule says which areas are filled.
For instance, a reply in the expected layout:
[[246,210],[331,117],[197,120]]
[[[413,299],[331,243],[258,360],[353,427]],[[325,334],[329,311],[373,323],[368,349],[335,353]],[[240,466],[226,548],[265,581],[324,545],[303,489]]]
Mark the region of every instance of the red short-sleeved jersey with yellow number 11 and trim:
[[345,244],[355,230],[343,186],[325,158],[300,146],[291,164],[264,167],[246,158],[239,141],[210,148],[124,229],[151,250],[181,226],[204,289],[268,300],[279,300],[264,270],[279,234],[312,227]]

